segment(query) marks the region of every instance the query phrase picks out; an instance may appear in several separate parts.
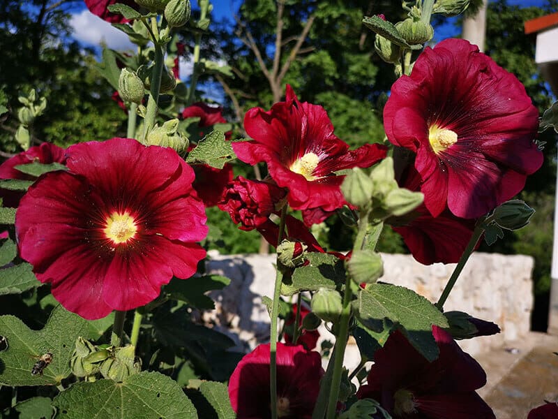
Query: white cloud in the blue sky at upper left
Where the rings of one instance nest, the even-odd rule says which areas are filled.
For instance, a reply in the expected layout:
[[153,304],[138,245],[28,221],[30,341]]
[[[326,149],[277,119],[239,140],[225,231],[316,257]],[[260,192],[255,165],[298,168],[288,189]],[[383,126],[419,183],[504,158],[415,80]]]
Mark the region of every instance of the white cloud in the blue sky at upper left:
[[82,43],[99,46],[104,42],[112,50],[135,50],[135,45],[130,42],[128,35],[87,9],[72,15],[70,26],[73,29],[73,37]]

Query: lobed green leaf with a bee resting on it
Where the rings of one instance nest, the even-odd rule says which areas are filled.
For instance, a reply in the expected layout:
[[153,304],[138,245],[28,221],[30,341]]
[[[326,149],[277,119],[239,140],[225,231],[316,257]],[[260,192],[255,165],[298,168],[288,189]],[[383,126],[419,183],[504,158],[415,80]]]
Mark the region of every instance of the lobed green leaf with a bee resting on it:
[[[15,316],[0,316],[0,335],[8,339],[8,349],[0,352],[0,384],[59,385],[70,375],[70,358],[75,339],[87,333],[87,322],[61,306],[55,307],[45,327],[31,330]],[[31,375],[40,356],[52,353],[52,362],[43,375]]]

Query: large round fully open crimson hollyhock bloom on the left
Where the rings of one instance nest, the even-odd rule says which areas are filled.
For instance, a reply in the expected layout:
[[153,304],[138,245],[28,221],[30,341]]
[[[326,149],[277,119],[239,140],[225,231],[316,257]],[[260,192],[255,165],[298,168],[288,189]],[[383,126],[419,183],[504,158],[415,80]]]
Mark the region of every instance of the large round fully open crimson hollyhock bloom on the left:
[[15,216],[22,258],[66,309],[89,319],[134,309],[196,272],[206,215],[173,149],[113,138],[67,156],[70,171],[40,177]]

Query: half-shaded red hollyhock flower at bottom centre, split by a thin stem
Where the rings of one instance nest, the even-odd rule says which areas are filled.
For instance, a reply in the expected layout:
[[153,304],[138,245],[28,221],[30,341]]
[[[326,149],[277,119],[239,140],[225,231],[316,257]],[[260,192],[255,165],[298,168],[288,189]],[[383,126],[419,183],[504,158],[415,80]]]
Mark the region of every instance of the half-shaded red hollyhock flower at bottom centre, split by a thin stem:
[[[271,418],[269,344],[257,346],[236,365],[229,398],[237,419]],[[310,419],[324,375],[319,353],[277,344],[277,410],[285,419]]]

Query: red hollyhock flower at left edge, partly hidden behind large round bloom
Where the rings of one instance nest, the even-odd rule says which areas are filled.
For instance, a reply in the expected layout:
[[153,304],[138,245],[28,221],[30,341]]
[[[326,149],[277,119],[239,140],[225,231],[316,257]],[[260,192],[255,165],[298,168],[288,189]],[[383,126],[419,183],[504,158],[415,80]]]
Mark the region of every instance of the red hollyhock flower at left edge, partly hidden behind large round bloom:
[[[64,155],[64,152],[66,152],[65,149],[51,144],[50,142],[43,142],[41,145],[31,147],[27,150],[27,152],[17,154],[1,164],[0,179],[35,180],[36,177],[20,172],[20,170],[15,168],[15,166],[33,163],[33,161],[38,161],[38,163],[44,164],[64,164],[66,163],[66,156]],[[17,207],[22,196],[24,196],[24,192],[0,189],[0,197],[3,199],[2,205],[4,207]]]

